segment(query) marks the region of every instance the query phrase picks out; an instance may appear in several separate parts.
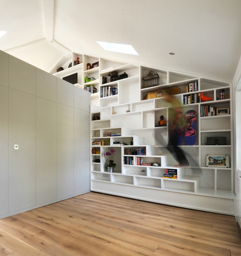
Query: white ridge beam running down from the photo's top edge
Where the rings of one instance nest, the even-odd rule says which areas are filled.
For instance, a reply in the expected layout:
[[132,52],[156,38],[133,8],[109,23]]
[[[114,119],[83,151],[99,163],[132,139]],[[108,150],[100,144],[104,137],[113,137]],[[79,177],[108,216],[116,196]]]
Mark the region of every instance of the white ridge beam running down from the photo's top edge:
[[45,22],[46,40],[48,42],[53,41],[54,33],[54,0],[42,0],[43,1],[43,14]]

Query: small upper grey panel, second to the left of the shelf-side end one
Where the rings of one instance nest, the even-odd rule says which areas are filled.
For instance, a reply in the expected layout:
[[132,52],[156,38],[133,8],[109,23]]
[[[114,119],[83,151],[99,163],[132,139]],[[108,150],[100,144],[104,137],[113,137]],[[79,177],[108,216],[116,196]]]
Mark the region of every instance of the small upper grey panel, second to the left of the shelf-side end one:
[[57,77],[36,68],[36,96],[57,101]]

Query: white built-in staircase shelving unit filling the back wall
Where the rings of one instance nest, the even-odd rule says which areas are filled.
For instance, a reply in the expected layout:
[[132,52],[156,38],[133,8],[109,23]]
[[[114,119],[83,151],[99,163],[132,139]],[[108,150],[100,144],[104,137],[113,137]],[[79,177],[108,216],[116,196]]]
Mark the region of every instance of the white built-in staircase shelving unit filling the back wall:
[[[206,210],[217,213],[233,215],[233,116],[232,99],[218,99],[220,90],[225,96],[232,95],[230,82],[218,81],[192,74],[173,72],[167,69],[139,65],[137,63],[119,62],[117,60],[99,58],[91,55],[73,53],[72,61],[79,58],[83,64],[55,73],[63,77],[78,72],[78,83],[85,86],[85,76],[95,77],[92,83],[97,93],[91,96],[92,113],[91,142],[105,141],[110,145],[95,145],[100,154],[91,153],[91,190],[114,194],[124,197],[136,198],[163,204]],[[69,60],[67,61],[69,62]],[[86,70],[87,63],[98,62],[98,67]],[[142,76],[148,71],[155,71],[159,75],[159,85],[154,87],[142,86]],[[69,72],[68,72],[69,71]],[[118,72],[128,74],[127,78],[110,82],[108,74]],[[107,78],[102,84],[101,77]],[[190,83],[198,83],[198,90],[187,92]],[[101,97],[101,87],[118,90],[117,95]],[[147,93],[162,91],[167,88],[179,87],[181,92],[176,97],[183,102],[184,96],[204,93],[212,98],[204,102],[183,104],[183,113],[195,110],[197,113],[196,143],[189,146],[183,140],[180,146],[186,153],[190,166],[177,169],[177,179],[163,178],[166,168],[173,168],[176,161],[166,149],[168,136],[171,131],[169,120],[170,105],[165,97],[145,100]],[[201,108],[211,106],[228,108],[227,115],[214,115],[201,117]],[[99,120],[93,120],[94,116]],[[167,126],[157,127],[160,116],[163,115]],[[120,133],[121,136],[106,137],[106,132]],[[226,137],[227,145],[206,145],[207,137]],[[130,139],[133,145],[130,145]],[[127,145],[118,145],[121,141]],[[131,152],[137,147],[146,147],[146,155],[142,156],[145,162],[158,162],[161,166],[141,166],[124,164],[125,149]],[[116,150],[110,160],[117,166],[113,173],[107,172],[103,152],[106,148]],[[206,155],[229,155],[230,167],[206,165]],[[95,160],[99,159],[99,163]],[[143,170],[143,172],[141,172]]]

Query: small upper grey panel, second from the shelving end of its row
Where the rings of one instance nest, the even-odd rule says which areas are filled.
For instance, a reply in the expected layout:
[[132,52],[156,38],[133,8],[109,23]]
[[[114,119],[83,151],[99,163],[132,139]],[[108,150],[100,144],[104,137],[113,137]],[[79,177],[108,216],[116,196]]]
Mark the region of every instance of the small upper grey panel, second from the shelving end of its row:
[[74,106],[74,85],[62,79],[57,79],[57,102]]

